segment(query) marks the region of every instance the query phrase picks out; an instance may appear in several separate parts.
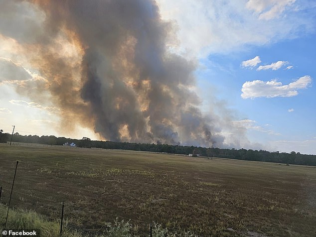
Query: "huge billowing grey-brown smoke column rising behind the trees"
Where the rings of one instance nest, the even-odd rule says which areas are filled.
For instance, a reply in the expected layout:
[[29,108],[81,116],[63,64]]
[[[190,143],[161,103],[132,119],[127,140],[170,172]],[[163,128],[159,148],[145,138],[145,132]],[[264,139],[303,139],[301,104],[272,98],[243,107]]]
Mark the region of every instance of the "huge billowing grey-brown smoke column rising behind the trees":
[[[19,2],[19,1],[16,1]],[[42,32],[24,47],[45,80],[41,99],[104,139],[221,146],[191,90],[195,63],[168,50],[172,24],[153,0],[29,0],[44,12]]]

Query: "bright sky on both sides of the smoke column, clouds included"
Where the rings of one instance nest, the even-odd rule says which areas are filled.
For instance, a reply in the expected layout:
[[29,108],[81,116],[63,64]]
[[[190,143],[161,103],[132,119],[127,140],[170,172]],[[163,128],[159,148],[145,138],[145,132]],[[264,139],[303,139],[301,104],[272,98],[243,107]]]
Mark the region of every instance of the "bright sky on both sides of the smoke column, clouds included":
[[[196,62],[192,90],[201,111],[220,124],[226,147],[316,154],[314,0],[157,3],[161,18],[174,26],[170,52]],[[35,23],[12,15],[12,31],[0,10],[0,128],[10,132],[15,124],[21,134],[100,139],[82,124],[62,129],[59,108],[16,89],[20,77],[24,83],[46,80],[29,63],[35,52],[25,53],[18,43],[32,40],[29,32],[42,27],[44,15],[32,5],[16,12]],[[67,56],[80,55],[67,43]]]

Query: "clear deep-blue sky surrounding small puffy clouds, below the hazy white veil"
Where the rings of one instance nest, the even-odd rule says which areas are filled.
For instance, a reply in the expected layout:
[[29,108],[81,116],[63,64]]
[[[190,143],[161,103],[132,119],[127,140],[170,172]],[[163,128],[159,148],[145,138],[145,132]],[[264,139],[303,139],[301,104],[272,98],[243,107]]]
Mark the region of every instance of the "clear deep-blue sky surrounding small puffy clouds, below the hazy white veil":
[[[316,46],[315,34],[301,38],[284,40],[275,44],[250,47],[246,52],[228,55],[208,56],[200,62],[204,67],[196,72],[201,97],[207,105],[208,91],[214,91],[218,99],[226,101],[229,108],[235,110],[239,119],[247,119],[248,138],[252,142],[269,144],[272,148],[284,150],[298,149],[304,141],[315,140],[316,134],[316,98],[313,66]],[[242,61],[259,56],[261,63],[255,67],[243,67]],[[256,70],[260,65],[270,65],[277,61],[287,63],[277,70]],[[292,66],[291,69],[286,69]],[[305,89],[299,89],[292,97],[258,97],[243,99],[242,86],[246,81],[277,80],[283,85],[310,75],[312,82]],[[211,87],[209,86],[211,84]],[[203,89],[204,88],[204,89]],[[251,121],[249,121],[251,120]],[[291,142],[286,143],[286,140]],[[282,142],[278,142],[282,141]],[[281,144],[282,146],[281,146]],[[308,144],[313,145],[313,142]],[[271,148],[270,148],[271,149]],[[311,147],[313,152],[314,147]]]

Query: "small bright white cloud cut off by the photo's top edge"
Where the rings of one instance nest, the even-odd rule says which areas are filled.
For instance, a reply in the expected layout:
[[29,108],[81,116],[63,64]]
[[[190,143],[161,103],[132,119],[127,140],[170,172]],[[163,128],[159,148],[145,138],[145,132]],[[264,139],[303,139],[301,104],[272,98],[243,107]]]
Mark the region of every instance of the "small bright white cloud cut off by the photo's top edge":
[[259,14],[259,19],[271,20],[278,18],[296,0],[249,0],[247,8]]

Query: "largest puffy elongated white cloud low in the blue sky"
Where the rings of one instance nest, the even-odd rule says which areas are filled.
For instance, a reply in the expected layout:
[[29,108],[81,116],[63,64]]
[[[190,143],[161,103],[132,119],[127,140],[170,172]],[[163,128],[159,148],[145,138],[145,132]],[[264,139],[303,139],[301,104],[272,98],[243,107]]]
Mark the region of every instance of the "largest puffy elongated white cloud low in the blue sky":
[[241,89],[241,97],[243,99],[253,99],[256,97],[292,97],[299,94],[298,89],[305,89],[311,83],[312,78],[310,76],[301,77],[289,85],[282,85],[281,82],[277,82],[276,80],[269,82],[255,80],[244,83]]

